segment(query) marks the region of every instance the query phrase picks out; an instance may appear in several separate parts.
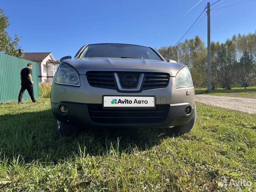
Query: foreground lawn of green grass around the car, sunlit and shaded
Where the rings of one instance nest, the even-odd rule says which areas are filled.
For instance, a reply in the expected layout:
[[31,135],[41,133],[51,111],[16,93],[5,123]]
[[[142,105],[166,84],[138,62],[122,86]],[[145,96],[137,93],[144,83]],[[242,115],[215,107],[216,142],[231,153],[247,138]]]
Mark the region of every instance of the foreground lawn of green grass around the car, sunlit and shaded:
[[0,191],[226,191],[220,179],[255,182],[256,115],[200,103],[197,111],[182,137],[124,128],[62,137],[49,98],[0,105]]

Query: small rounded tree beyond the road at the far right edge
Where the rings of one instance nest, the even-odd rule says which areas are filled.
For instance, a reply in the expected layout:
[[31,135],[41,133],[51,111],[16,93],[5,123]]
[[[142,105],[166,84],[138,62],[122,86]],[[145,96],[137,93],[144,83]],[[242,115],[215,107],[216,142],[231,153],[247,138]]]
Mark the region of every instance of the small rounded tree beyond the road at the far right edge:
[[246,89],[248,81],[252,80],[256,76],[256,63],[252,54],[244,51],[240,61],[236,65],[238,76],[242,81],[242,86]]

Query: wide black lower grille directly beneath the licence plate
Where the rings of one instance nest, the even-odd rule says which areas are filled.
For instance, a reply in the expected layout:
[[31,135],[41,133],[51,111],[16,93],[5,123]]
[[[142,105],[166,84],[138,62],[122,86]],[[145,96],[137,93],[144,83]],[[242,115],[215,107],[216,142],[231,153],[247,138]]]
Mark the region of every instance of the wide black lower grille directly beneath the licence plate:
[[156,124],[163,123],[169,112],[169,105],[156,105],[154,110],[103,109],[102,105],[88,104],[90,119],[98,124]]

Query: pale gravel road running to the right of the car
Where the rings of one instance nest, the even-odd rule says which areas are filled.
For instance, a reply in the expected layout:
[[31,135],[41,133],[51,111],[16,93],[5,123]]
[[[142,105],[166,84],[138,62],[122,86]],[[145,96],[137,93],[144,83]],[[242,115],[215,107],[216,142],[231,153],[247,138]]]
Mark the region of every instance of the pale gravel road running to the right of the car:
[[225,97],[215,95],[196,95],[197,102],[217,107],[237,110],[247,113],[256,113],[256,99],[241,97]]

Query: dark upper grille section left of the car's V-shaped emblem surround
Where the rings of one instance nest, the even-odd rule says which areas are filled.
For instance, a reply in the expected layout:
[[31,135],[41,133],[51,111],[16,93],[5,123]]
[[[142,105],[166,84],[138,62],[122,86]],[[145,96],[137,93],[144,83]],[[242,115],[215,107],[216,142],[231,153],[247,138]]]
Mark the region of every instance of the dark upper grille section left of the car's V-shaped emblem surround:
[[111,71],[88,71],[86,76],[89,84],[93,87],[116,89],[114,73]]

